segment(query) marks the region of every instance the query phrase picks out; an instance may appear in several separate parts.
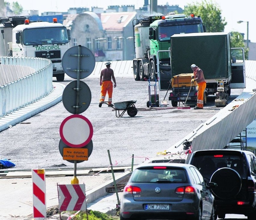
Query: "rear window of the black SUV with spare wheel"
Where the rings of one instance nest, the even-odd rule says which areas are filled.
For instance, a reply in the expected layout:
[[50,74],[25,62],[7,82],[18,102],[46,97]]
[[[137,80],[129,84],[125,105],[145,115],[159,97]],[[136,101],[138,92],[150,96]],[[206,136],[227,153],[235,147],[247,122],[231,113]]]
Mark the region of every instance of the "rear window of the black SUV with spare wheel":
[[199,169],[203,176],[212,175],[216,170],[229,167],[241,176],[245,174],[243,155],[230,152],[208,152],[207,155],[195,155],[191,164]]

